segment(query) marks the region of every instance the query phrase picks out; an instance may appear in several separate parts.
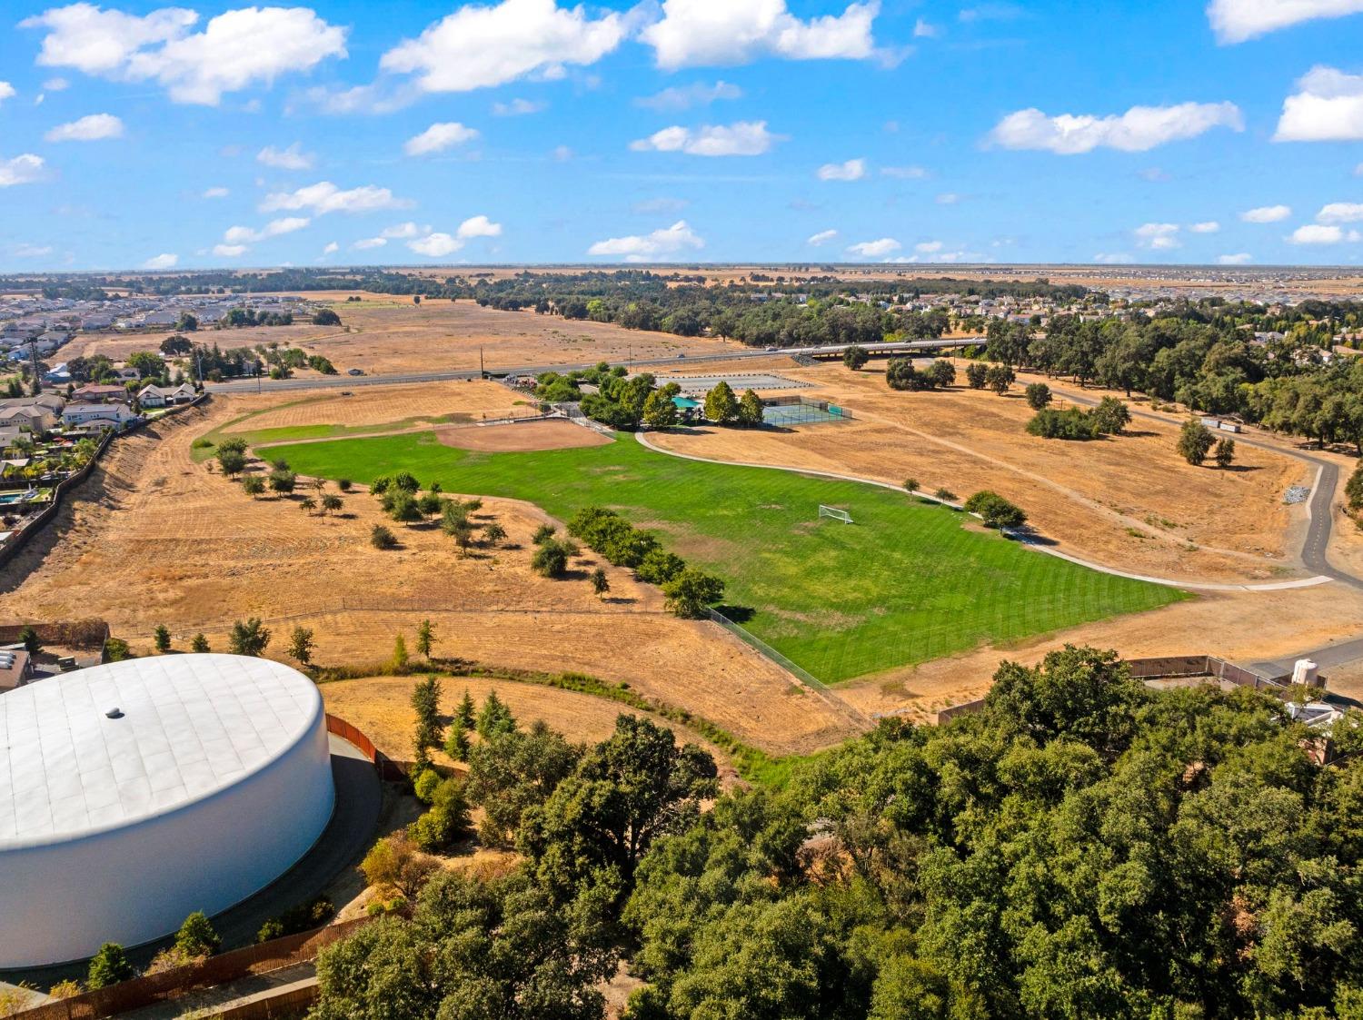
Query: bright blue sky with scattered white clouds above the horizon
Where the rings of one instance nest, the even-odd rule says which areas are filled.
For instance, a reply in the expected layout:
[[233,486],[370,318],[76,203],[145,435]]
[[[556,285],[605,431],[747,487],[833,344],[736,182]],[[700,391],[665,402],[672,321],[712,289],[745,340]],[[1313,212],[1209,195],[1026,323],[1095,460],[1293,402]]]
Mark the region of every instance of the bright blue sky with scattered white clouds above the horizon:
[[1363,0],[4,15],[0,271],[1363,256]]

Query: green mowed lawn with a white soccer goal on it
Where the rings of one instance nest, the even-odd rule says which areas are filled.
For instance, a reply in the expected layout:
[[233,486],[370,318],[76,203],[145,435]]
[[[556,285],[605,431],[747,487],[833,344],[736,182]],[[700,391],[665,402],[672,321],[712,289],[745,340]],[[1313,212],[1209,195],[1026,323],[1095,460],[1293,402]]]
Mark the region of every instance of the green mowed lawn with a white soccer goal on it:
[[[705,464],[631,437],[604,447],[474,453],[428,434],[264,451],[304,474],[368,482],[410,471],[450,493],[527,500],[567,519],[611,507],[718,575],[744,625],[836,682],[1187,598],[1029,550],[905,493],[789,471]],[[818,519],[819,504],[856,520]],[[526,553],[527,554],[527,553]]]

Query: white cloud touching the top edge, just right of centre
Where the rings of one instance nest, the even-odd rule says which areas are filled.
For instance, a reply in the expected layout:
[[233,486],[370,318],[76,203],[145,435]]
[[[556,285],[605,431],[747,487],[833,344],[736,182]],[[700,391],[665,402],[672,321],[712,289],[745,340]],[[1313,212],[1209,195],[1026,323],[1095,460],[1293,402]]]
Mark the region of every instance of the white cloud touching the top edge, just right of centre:
[[864,60],[875,54],[878,3],[800,20],[785,0],[662,0],[662,18],[639,38],[658,67],[746,64],[758,57]]

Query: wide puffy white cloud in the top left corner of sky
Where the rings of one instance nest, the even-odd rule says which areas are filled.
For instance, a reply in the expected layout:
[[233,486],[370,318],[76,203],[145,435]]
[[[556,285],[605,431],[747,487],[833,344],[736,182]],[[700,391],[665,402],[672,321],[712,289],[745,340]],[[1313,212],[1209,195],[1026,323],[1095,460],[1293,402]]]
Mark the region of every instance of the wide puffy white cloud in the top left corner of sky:
[[244,7],[191,31],[199,15],[179,7],[144,16],[90,3],[53,7],[19,25],[45,29],[38,64],[116,82],[155,82],[174,102],[217,106],[224,93],[269,86],[284,74],[343,57],[346,30],[305,7]]

